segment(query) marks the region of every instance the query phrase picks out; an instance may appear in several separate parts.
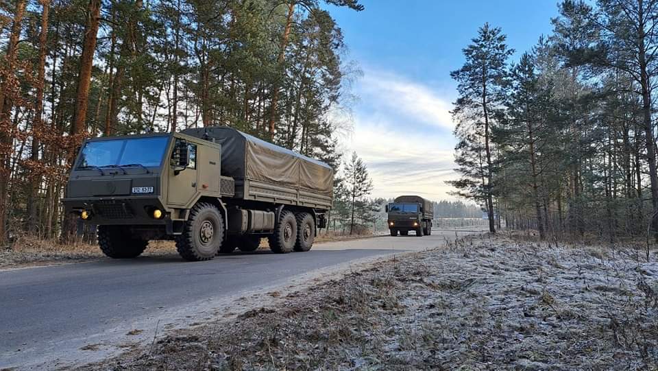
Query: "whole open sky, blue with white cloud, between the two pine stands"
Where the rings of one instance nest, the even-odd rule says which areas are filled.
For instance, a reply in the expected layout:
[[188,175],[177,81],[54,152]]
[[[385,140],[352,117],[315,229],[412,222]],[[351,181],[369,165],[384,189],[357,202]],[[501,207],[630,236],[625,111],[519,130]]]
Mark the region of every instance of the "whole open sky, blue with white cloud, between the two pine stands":
[[[444,182],[456,178],[456,98],[450,71],[461,49],[485,22],[502,27],[520,53],[550,34],[556,0],[361,0],[363,12],[330,8],[348,45],[346,60],[363,74],[352,84],[358,99],[345,119],[341,149],[356,150],[368,165],[375,197],[419,193],[453,199]],[[347,157],[347,156],[345,156]]]

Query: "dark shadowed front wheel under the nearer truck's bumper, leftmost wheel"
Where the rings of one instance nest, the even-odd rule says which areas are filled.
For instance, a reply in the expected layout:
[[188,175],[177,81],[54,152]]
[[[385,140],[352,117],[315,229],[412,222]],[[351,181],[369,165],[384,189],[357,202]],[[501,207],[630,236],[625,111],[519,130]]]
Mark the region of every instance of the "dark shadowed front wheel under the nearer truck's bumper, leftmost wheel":
[[149,244],[149,241],[131,237],[123,226],[98,226],[97,236],[103,254],[113,259],[136,258]]

